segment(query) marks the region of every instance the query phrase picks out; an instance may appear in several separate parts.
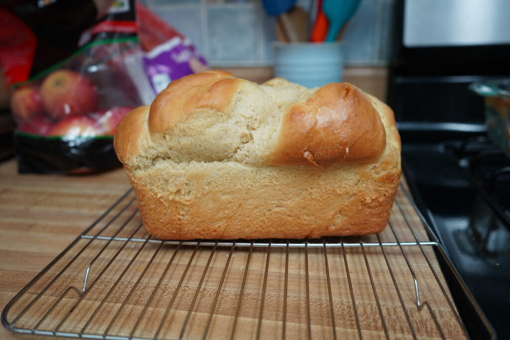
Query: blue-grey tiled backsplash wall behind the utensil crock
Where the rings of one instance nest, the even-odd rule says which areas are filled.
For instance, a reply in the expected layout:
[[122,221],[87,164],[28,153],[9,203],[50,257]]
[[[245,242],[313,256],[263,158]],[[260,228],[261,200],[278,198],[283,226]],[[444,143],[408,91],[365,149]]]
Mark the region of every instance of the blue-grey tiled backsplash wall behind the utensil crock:
[[[261,0],[142,0],[190,38],[212,66],[270,66],[275,19]],[[394,0],[363,0],[343,37],[348,66],[385,65]],[[310,0],[299,0],[308,8]]]

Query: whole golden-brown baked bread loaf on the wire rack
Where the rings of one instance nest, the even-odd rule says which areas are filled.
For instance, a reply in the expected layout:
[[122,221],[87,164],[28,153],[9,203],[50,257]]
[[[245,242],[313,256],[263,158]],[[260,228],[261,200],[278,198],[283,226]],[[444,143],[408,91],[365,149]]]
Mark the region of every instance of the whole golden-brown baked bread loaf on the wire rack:
[[348,83],[188,75],[127,114],[114,145],[161,239],[376,233],[401,173],[393,111]]

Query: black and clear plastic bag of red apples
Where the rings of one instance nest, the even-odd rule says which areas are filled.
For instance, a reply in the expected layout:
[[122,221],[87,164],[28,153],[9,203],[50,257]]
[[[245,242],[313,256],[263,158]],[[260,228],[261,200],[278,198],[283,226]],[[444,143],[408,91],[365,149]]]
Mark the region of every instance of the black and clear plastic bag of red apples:
[[0,64],[17,122],[18,171],[119,166],[115,127],[142,104],[126,63],[141,51],[135,0],[13,3],[0,9]]

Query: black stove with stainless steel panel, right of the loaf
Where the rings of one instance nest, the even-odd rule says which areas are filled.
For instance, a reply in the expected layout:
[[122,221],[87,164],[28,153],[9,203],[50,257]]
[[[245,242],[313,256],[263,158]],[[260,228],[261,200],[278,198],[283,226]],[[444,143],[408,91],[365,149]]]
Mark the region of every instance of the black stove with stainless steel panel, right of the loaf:
[[[418,206],[498,338],[510,338],[510,158],[487,138],[483,98],[468,87],[510,79],[509,6],[397,1],[388,84]],[[450,279],[471,337],[489,337]]]

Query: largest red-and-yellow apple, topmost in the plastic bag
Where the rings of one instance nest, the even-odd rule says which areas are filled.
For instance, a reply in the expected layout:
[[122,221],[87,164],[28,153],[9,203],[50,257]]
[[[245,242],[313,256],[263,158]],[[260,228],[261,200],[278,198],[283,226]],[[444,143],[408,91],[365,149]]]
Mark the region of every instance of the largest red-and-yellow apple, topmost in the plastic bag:
[[97,106],[94,84],[84,75],[58,70],[48,75],[41,85],[44,108],[54,119],[84,115]]

